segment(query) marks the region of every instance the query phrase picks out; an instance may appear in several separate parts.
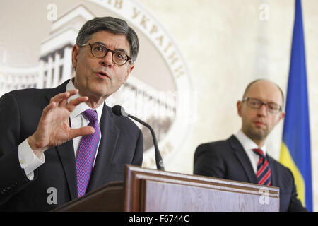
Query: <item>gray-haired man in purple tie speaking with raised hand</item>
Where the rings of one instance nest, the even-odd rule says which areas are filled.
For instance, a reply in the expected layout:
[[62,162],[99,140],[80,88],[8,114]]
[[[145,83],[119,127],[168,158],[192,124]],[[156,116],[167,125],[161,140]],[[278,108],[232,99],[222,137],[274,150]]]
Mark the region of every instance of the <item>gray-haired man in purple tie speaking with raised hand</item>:
[[[124,20],[94,18],[72,50],[75,78],[0,99],[0,210],[52,210],[141,165],[143,136],[105,99],[134,69],[139,40]],[[81,155],[81,157],[79,157]]]

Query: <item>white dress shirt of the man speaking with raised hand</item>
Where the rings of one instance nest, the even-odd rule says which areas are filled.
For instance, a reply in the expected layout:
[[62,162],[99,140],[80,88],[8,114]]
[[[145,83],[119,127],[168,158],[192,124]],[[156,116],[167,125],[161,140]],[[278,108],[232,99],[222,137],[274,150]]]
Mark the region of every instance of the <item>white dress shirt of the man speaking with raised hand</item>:
[[[75,87],[71,80],[66,85],[66,91],[69,91],[69,90],[75,90]],[[68,102],[79,96],[80,95],[77,94],[77,95],[73,95],[69,97]],[[100,117],[102,116],[102,108],[103,108],[103,105],[100,105],[100,107],[94,109],[98,114],[99,122],[100,122]],[[87,126],[89,124],[88,119],[83,117],[83,114],[81,114],[82,112],[86,111],[86,109],[90,109],[90,107],[86,105],[86,103],[81,103],[75,107],[73,112],[71,112],[70,119],[71,119],[72,129],[77,129],[83,126]],[[81,136],[73,138],[75,156],[77,154],[77,150],[78,150],[79,143],[81,142],[81,138],[82,138]],[[98,147],[99,145],[100,144],[98,143]],[[95,159],[96,159],[96,156],[97,156],[97,152],[95,155]],[[42,165],[43,163],[45,163],[45,154],[42,153],[40,157],[37,157],[33,153],[33,150],[30,148],[30,145],[27,139],[25,139],[25,141],[23,141],[22,143],[20,143],[20,145],[18,145],[18,158],[19,158],[21,167],[24,169],[25,174],[30,180],[34,178],[34,170],[37,169],[37,167],[40,167],[40,165]],[[95,160],[94,160],[94,164],[95,164]]]

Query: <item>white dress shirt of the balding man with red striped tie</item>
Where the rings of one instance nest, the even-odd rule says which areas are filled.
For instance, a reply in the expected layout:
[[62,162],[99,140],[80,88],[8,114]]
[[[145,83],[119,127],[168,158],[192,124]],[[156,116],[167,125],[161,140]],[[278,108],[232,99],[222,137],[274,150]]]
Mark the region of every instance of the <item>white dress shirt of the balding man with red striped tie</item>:
[[[248,136],[245,135],[245,133],[242,132],[242,130],[238,131],[235,134],[235,137],[237,140],[240,141],[242,144],[245,153],[247,153],[247,157],[249,157],[249,161],[252,164],[253,170],[255,174],[257,173],[257,163],[259,162],[259,155],[257,153],[254,153],[254,148],[259,148],[259,146],[254,143]],[[261,150],[264,152],[264,155],[266,155],[266,145],[261,147]]]

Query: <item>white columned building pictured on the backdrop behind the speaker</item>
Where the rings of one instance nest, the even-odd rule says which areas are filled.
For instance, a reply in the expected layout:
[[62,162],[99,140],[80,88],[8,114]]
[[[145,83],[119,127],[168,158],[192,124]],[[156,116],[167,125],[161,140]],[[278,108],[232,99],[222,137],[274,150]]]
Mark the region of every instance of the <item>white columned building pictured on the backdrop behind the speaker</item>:
[[[0,66],[0,97],[11,90],[23,88],[53,88],[73,75],[71,52],[78,30],[95,15],[84,4],[79,4],[52,22],[49,36],[40,43],[39,63],[36,66],[13,68]],[[3,56],[5,57],[5,56]],[[176,114],[176,100],[161,95],[158,90],[135,76],[107,98],[107,105],[122,105],[127,112],[148,121],[158,140],[165,136]],[[160,115],[156,115],[160,112]],[[141,127],[142,128],[142,127]],[[144,149],[153,141],[148,129],[142,129]]]

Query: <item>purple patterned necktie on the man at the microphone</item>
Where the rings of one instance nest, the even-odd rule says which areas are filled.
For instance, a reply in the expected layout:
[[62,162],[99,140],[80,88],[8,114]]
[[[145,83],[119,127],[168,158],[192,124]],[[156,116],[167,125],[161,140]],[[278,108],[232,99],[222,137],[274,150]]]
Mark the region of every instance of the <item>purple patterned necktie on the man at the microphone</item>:
[[91,109],[87,109],[82,114],[90,121],[88,126],[92,126],[95,129],[95,133],[83,136],[78,147],[78,153],[76,157],[78,197],[83,196],[86,192],[88,182],[90,181],[90,174],[93,169],[95,153],[100,141],[98,114]]

